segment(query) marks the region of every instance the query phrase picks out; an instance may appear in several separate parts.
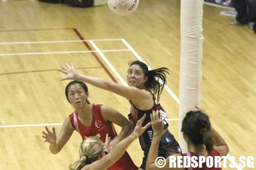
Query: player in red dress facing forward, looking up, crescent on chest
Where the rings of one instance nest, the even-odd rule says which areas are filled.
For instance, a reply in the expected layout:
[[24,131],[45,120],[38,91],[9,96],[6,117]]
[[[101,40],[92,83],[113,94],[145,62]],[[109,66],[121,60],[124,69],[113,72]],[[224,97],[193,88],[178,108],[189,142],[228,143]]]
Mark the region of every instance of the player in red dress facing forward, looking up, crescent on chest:
[[[87,100],[89,95],[85,83],[71,81],[66,86],[65,94],[69,103],[76,110],[64,121],[58,138],[54,128],[52,128],[53,132],[51,132],[48,127],[45,127],[46,132],[43,132],[43,138],[45,138],[44,141],[50,143],[49,149],[52,154],[57,154],[62,150],[74,131],[79,132],[82,140],[96,136],[103,142],[105,142],[106,134],[108,134],[112,138],[111,147],[126,138],[132,131],[129,120],[117,110],[102,104],[90,104]],[[116,134],[113,123],[122,127],[119,135]],[[135,170],[138,167],[133,163],[129,154],[125,152],[123,157],[109,169]]]

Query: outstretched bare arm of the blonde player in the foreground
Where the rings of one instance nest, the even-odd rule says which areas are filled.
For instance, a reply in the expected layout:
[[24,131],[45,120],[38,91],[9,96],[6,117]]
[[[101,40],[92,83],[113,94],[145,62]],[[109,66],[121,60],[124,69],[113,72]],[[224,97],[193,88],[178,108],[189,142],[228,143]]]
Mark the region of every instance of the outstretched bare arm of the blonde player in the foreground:
[[98,161],[94,161],[90,165],[84,166],[82,170],[102,170],[102,169],[107,169],[110,166],[112,166],[116,161],[119,160],[119,158],[122,157],[124,152],[126,152],[126,149],[128,146],[135,140],[137,139],[140,135],[143,134],[143,132],[151,125],[149,122],[146,124],[146,126],[142,127],[142,123],[145,120],[146,115],[144,115],[136,124],[135,129],[133,130],[132,134],[129,135],[129,137],[125,138],[124,140],[120,141],[116,146],[104,157],[102,157]]

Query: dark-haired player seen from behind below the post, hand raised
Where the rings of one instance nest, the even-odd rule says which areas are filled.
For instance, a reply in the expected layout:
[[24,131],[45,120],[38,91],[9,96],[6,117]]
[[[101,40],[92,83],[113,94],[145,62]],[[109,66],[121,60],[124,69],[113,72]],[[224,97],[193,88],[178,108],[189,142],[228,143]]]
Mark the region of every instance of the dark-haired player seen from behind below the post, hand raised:
[[[151,124],[154,131],[154,136],[151,144],[151,148],[149,150],[148,160],[147,160],[147,166],[146,170],[151,169],[158,169],[158,166],[155,163],[155,160],[157,159],[158,155],[157,153],[157,146],[159,144],[161,135],[162,135],[162,129],[163,129],[163,121],[162,121],[162,113],[153,112],[151,114]],[[190,168],[178,168],[177,167],[177,161],[176,165],[172,167],[176,168],[170,168],[169,167],[169,157],[166,158],[166,165],[159,169],[182,169],[182,170],[220,170],[221,168],[215,167],[215,156],[226,156],[229,152],[229,147],[227,146],[224,139],[221,137],[221,135],[218,134],[218,132],[211,127],[210,120],[208,115],[204,113],[203,110],[199,109],[197,107],[197,110],[190,111],[186,114],[185,118],[183,118],[182,121],[182,132],[183,132],[183,138],[187,142],[187,148],[188,153],[186,154],[172,154],[171,156],[174,157],[197,157],[194,158],[194,160],[198,163],[198,157],[212,157],[211,160],[213,162],[212,167],[207,167],[205,163],[202,163],[202,167],[199,167],[199,163],[197,167],[193,167],[191,162],[188,163],[188,165],[191,165]],[[215,143],[213,142],[215,141]],[[214,145],[215,146],[214,146]],[[188,159],[191,160],[191,159]],[[161,165],[164,161],[159,161],[158,165]],[[182,161],[183,162],[183,161]],[[162,164],[163,165],[163,164]]]

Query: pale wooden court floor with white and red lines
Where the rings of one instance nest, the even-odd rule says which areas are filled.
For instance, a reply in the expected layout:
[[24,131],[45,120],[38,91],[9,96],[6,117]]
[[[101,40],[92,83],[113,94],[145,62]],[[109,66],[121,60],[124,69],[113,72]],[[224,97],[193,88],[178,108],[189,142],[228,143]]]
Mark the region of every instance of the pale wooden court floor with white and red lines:
[[[230,26],[234,18],[219,15],[225,10],[204,5],[201,107],[229,144],[231,156],[256,158],[256,35],[247,26]],[[80,73],[122,83],[116,72],[126,80],[127,63],[140,56],[151,69],[171,70],[167,86],[179,97],[179,13],[178,0],[140,1],[135,13],[123,17],[107,5],[82,9],[0,2],[0,169],[68,169],[79,157],[77,133],[57,155],[41,138],[46,124],[59,134],[73,112],[65,98],[68,81],[59,81],[60,64],[73,62]],[[91,103],[129,114],[126,99],[88,88]],[[179,104],[166,90],[160,102],[170,119],[179,118]],[[169,124],[179,138],[179,121]],[[140,166],[138,141],[128,152]]]

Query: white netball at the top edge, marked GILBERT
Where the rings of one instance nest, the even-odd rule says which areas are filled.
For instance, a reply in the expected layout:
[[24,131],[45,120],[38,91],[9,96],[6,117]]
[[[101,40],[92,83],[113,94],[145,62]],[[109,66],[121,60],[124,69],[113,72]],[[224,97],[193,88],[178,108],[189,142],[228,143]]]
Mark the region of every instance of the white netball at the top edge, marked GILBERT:
[[107,0],[107,4],[116,15],[126,16],[135,12],[139,0]]

